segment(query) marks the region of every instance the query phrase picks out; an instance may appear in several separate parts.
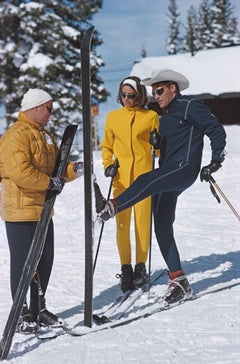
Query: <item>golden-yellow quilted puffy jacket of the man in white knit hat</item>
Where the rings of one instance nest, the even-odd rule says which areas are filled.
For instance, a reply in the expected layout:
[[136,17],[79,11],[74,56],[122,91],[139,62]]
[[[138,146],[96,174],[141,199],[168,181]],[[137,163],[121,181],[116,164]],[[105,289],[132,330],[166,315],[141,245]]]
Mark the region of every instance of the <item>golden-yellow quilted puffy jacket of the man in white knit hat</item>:
[[[20,112],[0,139],[1,217],[5,221],[39,220],[58,148],[51,136]],[[76,175],[73,164],[67,180]]]

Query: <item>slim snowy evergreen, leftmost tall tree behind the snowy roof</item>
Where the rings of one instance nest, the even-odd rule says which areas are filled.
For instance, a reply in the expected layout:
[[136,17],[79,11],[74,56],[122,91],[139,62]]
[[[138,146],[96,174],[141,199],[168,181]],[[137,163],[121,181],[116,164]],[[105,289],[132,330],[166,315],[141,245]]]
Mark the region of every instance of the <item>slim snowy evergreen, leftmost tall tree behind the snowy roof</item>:
[[170,5],[168,6],[168,38],[166,40],[166,50],[168,54],[177,54],[179,51],[180,37],[179,28],[180,21],[178,20],[180,14],[177,11],[177,4],[175,0],[170,0]]

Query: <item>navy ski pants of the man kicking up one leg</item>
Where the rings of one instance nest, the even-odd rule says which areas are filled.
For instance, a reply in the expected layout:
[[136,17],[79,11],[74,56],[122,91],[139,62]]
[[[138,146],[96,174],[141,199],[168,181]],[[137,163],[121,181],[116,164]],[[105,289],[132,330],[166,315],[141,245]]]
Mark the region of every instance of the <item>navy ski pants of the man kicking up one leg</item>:
[[118,212],[120,212],[148,196],[154,196],[155,234],[163,258],[171,272],[182,269],[173,233],[177,198],[194,183],[199,169],[200,161],[186,163],[183,166],[177,164],[161,166],[139,176],[115,199],[118,203]]

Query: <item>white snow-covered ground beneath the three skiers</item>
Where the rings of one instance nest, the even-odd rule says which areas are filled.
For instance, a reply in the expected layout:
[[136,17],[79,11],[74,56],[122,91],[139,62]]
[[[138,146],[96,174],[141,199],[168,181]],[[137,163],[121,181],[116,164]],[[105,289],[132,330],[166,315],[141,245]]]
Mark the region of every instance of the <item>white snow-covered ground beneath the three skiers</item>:
[[[239,126],[227,126],[226,161],[214,174],[235,209],[239,203]],[[203,163],[210,160],[206,140]],[[94,152],[94,170],[105,195],[109,179],[103,176],[100,152]],[[48,308],[69,325],[79,323],[84,310],[84,194],[83,178],[65,186],[55,207],[55,262],[47,292]],[[94,251],[100,226],[95,224]],[[0,222],[0,332],[11,306],[9,252],[4,223]],[[239,221],[227,204],[212,196],[199,180],[179,198],[175,236],[183,267],[195,293],[240,282]],[[166,268],[154,234],[153,274]],[[134,244],[133,244],[134,245]],[[134,254],[133,254],[134,263]],[[115,243],[115,222],[105,224],[94,275],[94,312],[102,312],[120,293],[115,274],[120,272]],[[156,305],[167,276],[131,308],[130,315]],[[63,335],[50,341],[16,334],[9,354],[11,364],[233,364],[239,362],[240,286],[169,311],[156,313],[127,326],[83,337]],[[85,328],[83,328],[85,330]],[[86,328],[86,330],[88,330]]]

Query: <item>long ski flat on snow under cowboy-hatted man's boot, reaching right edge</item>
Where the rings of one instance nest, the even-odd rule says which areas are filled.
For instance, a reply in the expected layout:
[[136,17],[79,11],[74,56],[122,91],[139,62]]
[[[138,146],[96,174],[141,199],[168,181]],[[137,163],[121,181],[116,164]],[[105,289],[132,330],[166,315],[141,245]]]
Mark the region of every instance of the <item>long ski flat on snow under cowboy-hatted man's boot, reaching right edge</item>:
[[120,320],[116,320],[116,321],[111,321],[111,322],[108,322],[108,323],[105,323],[101,326],[96,326],[92,329],[89,329],[89,328],[83,328],[81,327],[81,331],[80,330],[77,330],[76,328],[69,328],[69,327],[63,327],[63,329],[65,330],[65,332],[71,336],[85,336],[85,335],[88,335],[88,334],[92,334],[92,333],[96,333],[96,332],[100,332],[100,331],[103,331],[103,330],[107,330],[107,329],[114,329],[114,328],[117,328],[117,327],[120,327],[120,326],[125,326],[125,325],[128,325],[132,322],[135,322],[135,321],[138,321],[140,319],[144,319],[144,318],[147,318],[147,317],[150,317],[156,313],[160,313],[160,312],[163,312],[163,311],[167,311],[167,310],[170,310],[170,309],[173,309],[175,307],[178,307],[178,306],[181,306],[181,305],[184,305],[186,303],[189,303],[189,302],[192,302],[192,301],[195,301],[197,299],[200,299],[204,296],[207,296],[207,295],[211,295],[211,294],[215,294],[215,293],[218,293],[218,292],[222,292],[224,290],[227,290],[227,289],[232,289],[236,286],[239,286],[240,285],[240,281],[236,282],[236,283],[232,283],[232,284],[229,284],[229,285],[225,285],[223,287],[220,287],[220,288],[215,288],[215,289],[212,289],[212,290],[209,290],[209,291],[205,291],[205,292],[199,292],[199,293],[196,293],[195,295],[192,296],[191,299],[188,299],[188,300],[185,300],[185,301],[180,301],[176,304],[173,304],[173,305],[162,305],[162,303],[159,303],[157,305],[156,308],[153,308],[145,313],[140,313],[139,315],[135,315],[135,316],[132,316],[132,317],[129,317],[129,318],[126,318],[126,319],[120,319]]

